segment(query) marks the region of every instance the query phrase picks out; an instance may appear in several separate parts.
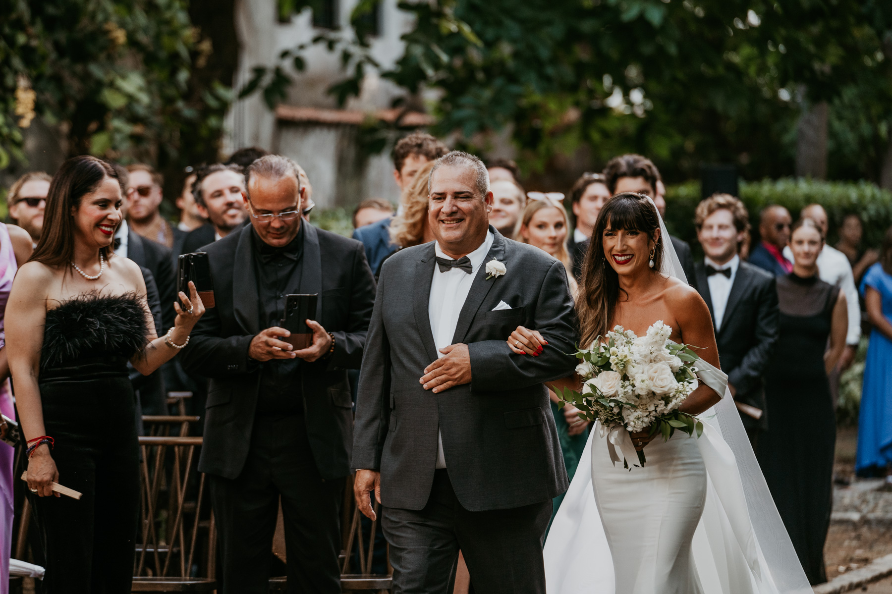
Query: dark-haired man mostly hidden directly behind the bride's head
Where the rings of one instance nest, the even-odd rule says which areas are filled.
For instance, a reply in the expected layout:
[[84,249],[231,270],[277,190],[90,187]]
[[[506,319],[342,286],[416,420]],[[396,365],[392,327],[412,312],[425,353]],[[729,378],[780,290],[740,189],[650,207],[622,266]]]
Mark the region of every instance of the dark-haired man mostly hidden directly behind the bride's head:
[[[607,187],[613,195],[624,192],[635,192],[650,196],[660,216],[665,217],[666,202],[661,194],[657,194],[657,182],[660,181],[660,172],[653,161],[640,154],[624,154],[607,161],[604,168],[604,177],[607,177]],[[681,268],[688,277],[688,285],[697,288],[697,279],[694,275],[694,257],[690,253],[688,242],[669,235],[672,240],[675,253],[681,260]]]

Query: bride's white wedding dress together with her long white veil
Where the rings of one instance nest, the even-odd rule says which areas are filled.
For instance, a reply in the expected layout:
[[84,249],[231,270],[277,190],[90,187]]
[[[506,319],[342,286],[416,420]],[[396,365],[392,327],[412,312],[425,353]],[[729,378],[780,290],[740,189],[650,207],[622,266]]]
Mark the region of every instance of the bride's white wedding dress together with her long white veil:
[[[669,236],[662,219],[660,229]],[[663,262],[686,280],[672,242]],[[657,437],[630,471],[611,461],[637,462],[629,433],[592,427],[545,542],[548,594],[812,594],[727,376],[698,367],[724,396],[699,416],[699,438]]]

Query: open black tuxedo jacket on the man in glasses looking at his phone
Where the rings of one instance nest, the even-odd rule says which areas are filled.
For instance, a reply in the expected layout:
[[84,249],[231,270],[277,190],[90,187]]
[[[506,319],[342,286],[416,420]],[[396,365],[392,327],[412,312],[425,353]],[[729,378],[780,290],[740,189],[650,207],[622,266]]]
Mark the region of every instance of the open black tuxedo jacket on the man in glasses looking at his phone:
[[[362,243],[301,224],[302,274],[286,291],[318,293],[316,319],[335,334],[330,357],[300,367],[313,458],[323,478],[335,479],[350,471],[353,402],[346,370],[362,361],[375,281]],[[266,327],[259,321],[252,233],[248,225],[201,247],[211,260],[217,307],[207,310],[180,353],[186,371],[211,379],[198,469],[229,479],[241,474],[251,444],[260,370],[248,347]]]

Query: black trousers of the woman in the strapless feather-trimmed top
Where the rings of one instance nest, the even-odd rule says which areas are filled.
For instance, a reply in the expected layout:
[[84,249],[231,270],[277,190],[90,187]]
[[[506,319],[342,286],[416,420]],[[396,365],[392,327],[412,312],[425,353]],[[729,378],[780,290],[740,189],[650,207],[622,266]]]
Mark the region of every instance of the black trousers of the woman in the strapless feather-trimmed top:
[[136,404],[124,361],[41,376],[59,483],[81,499],[28,493],[46,563],[46,594],[129,594],[139,515]]

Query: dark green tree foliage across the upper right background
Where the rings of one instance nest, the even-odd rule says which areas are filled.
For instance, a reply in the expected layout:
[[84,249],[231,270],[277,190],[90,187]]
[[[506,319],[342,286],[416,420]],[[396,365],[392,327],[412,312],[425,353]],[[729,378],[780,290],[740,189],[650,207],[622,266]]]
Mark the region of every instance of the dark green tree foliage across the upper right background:
[[[704,161],[778,177],[791,173],[802,109],[828,101],[831,173],[879,177],[892,119],[883,0],[399,5],[416,24],[383,76],[410,94],[434,89],[437,131],[475,150],[486,149],[481,133],[511,126],[535,169],[585,145],[595,166],[634,151],[674,179]],[[326,43],[342,53],[347,78],[332,91],[343,101],[375,64],[361,30],[339,40]]]

